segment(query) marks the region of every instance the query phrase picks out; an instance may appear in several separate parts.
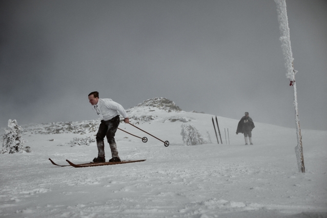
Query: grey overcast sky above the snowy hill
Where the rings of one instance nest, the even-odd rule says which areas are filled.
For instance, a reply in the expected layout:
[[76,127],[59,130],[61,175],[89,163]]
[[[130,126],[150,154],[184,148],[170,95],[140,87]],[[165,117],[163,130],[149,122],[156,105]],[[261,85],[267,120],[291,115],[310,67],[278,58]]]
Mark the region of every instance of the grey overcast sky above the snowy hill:
[[[327,1],[287,11],[301,128],[327,130]],[[98,91],[295,128],[279,37],[273,0],[0,1],[0,126],[95,119]]]

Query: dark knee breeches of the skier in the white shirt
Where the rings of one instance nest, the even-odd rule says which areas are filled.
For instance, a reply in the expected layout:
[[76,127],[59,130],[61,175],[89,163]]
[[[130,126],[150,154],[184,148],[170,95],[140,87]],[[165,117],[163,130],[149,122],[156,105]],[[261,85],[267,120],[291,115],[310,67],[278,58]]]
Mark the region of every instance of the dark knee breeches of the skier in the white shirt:
[[115,142],[115,133],[117,131],[120,119],[119,115],[112,118],[111,120],[101,120],[98,132],[96,134],[96,141],[103,141],[105,137],[107,137],[108,143],[116,143]]

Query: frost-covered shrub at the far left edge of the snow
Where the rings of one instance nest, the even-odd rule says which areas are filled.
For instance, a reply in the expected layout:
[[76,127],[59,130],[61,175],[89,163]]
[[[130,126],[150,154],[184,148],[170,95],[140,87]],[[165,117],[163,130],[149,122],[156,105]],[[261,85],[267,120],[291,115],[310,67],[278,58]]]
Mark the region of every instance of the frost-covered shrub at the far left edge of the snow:
[[17,124],[16,120],[8,120],[8,127],[6,133],[1,138],[3,148],[0,150],[1,154],[14,154],[16,152],[22,153],[24,151],[31,152],[29,146],[24,147],[25,142],[22,138],[22,127]]

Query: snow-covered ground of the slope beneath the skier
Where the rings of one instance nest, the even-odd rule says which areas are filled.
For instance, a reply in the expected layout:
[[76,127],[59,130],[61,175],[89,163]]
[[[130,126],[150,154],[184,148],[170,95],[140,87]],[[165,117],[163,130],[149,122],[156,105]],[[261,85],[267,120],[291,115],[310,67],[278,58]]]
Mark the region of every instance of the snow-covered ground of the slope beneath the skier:
[[[223,141],[217,144],[213,115],[173,109],[143,104],[128,110],[132,123],[170,145],[121,123],[119,128],[149,139],[143,143],[117,130],[121,159],[147,159],[121,165],[56,167],[48,160],[93,160],[95,142],[69,142],[94,137],[98,120],[23,127],[32,152],[0,155],[0,216],[327,217],[326,131],[302,129],[306,172],[301,173],[295,128],[257,123],[252,115],[254,145],[244,145],[242,134],[235,134],[238,120],[217,117]],[[184,146],[183,123],[205,137],[208,130],[212,143]],[[69,126],[81,131],[72,133]],[[55,129],[60,134],[49,134]]]

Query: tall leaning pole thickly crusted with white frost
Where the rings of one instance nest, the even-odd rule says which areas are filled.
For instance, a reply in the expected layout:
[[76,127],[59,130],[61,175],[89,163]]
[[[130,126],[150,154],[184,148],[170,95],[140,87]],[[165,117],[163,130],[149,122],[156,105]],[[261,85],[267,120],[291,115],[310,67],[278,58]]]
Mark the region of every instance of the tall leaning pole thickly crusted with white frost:
[[301,128],[300,128],[300,120],[299,120],[299,111],[297,107],[297,94],[296,94],[296,83],[295,83],[295,74],[297,71],[294,70],[293,67],[293,55],[291,49],[291,39],[290,39],[290,28],[289,21],[287,17],[286,11],[286,2],[285,0],[274,0],[277,5],[277,13],[278,13],[278,23],[279,23],[279,31],[281,41],[281,48],[283,51],[285,68],[287,70],[286,77],[290,79],[290,86],[293,86],[294,90],[294,107],[295,107],[295,124],[296,124],[296,136],[297,136],[297,146],[295,147],[295,154],[297,165],[299,171],[305,172],[304,167],[304,159],[303,159],[303,148],[302,148],[302,136],[301,136]]

